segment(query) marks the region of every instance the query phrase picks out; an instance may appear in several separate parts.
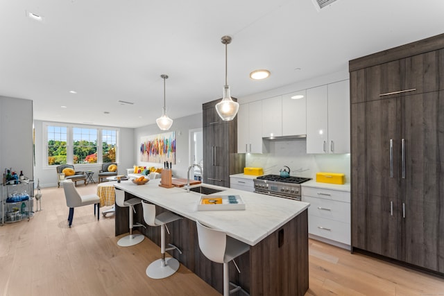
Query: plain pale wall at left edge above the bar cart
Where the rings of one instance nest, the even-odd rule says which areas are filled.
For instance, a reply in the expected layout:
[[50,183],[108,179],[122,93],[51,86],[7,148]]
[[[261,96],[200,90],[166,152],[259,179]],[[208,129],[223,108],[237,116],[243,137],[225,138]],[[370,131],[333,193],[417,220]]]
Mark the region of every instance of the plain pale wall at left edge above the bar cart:
[[33,180],[33,101],[0,96],[0,169]]

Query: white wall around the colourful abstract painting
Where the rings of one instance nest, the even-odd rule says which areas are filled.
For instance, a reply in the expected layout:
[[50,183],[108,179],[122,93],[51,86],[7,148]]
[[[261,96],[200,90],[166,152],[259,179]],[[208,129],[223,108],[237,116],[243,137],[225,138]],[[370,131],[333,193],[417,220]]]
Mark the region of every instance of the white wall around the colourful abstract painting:
[[[173,119],[173,125],[167,132],[176,132],[176,164],[173,164],[173,176],[174,177],[187,177],[187,170],[189,166],[189,130],[194,128],[202,128],[202,112],[190,116],[181,117],[179,119]],[[157,125],[146,125],[142,128],[136,128],[134,133],[133,146],[135,147],[134,163],[128,166],[132,168],[133,165],[137,166],[155,166],[162,168],[162,164],[155,164],[150,162],[141,162],[139,156],[139,146],[141,143],[141,137],[146,137],[152,134],[161,134]]]

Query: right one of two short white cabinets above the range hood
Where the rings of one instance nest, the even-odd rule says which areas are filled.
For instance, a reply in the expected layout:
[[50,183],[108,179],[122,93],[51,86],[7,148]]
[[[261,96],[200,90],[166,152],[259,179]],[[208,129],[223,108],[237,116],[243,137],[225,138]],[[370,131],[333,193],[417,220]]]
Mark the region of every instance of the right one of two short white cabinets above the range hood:
[[307,134],[307,92],[282,96],[282,136]]

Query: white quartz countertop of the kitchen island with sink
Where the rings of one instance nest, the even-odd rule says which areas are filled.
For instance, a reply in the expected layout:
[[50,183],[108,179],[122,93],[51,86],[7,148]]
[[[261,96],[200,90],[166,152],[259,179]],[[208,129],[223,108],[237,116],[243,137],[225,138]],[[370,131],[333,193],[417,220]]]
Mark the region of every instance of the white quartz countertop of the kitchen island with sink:
[[309,207],[307,202],[204,184],[207,187],[225,190],[212,195],[240,195],[246,204],[246,209],[198,211],[200,193],[193,191],[187,193],[185,189],[176,187],[166,189],[160,187],[159,184],[160,179],[155,179],[144,185],[123,181],[115,186],[180,216],[194,221],[199,220],[209,227],[221,229],[229,236],[248,245],[256,245]]

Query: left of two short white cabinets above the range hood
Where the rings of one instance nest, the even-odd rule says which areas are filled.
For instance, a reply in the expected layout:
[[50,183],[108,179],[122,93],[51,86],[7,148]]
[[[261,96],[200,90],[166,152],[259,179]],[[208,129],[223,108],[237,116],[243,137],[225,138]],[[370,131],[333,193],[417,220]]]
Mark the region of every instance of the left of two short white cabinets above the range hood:
[[282,96],[262,100],[262,137],[282,136]]

